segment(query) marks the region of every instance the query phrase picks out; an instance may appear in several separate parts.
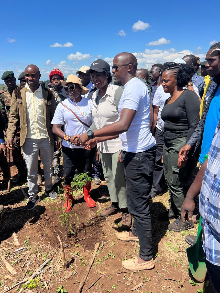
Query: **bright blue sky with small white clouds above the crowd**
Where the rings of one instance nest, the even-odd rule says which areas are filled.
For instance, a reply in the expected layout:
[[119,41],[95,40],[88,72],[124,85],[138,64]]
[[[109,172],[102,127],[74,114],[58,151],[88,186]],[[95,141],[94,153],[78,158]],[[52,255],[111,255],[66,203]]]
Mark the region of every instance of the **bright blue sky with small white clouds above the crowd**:
[[138,68],[187,54],[204,61],[210,45],[220,41],[219,1],[188,3],[40,0],[8,6],[4,1],[1,11],[10,18],[1,23],[0,76],[12,70],[18,77],[35,64],[42,80],[56,67],[67,77],[95,59],[112,65],[124,51],[136,55]]

